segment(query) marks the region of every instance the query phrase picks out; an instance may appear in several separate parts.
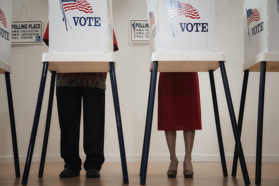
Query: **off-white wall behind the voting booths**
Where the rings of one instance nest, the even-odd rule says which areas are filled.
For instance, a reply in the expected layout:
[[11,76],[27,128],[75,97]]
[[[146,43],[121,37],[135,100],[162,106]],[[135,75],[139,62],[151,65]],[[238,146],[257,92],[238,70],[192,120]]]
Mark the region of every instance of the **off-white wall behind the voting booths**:
[[[30,17],[42,19],[44,28],[48,19],[47,0],[12,0],[13,20],[19,16],[22,5],[25,4]],[[219,51],[226,53],[226,69],[232,94],[235,113],[238,118],[239,101],[242,88],[243,72],[243,0],[218,0],[218,40]],[[148,89],[150,81],[149,72],[149,44],[129,43],[129,19],[141,19],[144,15],[146,1],[137,0],[113,0],[114,30],[117,36],[119,51],[117,58],[117,83],[124,129],[126,155],[128,161],[140,161]],[[145,15],[145,18],[147,16]],[[23,10],[21,20],[28,19]],[[45,45],[13,45],[12,46],[12,91],[15,108],[15,121],[17,128],[17,141],[19,146],[20,161],[24,162],[28,149],[28,143],[33,124],[33,117],[37,101],[38,88],[42,71],[40,62],[42,53],[47,52]],[[232,127],[226,105],[220,70],[215,73],[215,83],[219,104],[223,143],[227,160],[232,160],[234,139]],[[259,88],[259,73],[250,73],[246,98],[245,116],[242,130],[242,145],[246,160],[255,161],[256,129],[257,129],[257,102]],[[108,76],[109,77],[109,76]],[[279,146],[277,135],[279,130],[277,92],[279,88],[274,86],[279,74],[267,73],[264,129],[263,129],[263,160],[279,161]],[[199,73],[201,111],[203,130],[196,132],[193,149],[194,161],[219,161],[219,148],[210,92],[208,73]],[[10,122],[4,76],[0,76],[0,162],[12,162],[12,141],[10,135]],[[50,73],[48,73],[46,90],[44,94],[42,112],[37,133],[33,161],[40,160],[45,119],[47,113],[47,101],[50,86]],[[164,133],[157,131],[157,94],[155,99],[153,118],[150,159],[168,160],[168,148]],[[115,125],[115,113],[113,108],[110,80],[107,80],[106,110],[105,110],[105,155],[107,161],[119,161],[119,146]],[[82,122],[82,121],[81,121]],[[82,133],[81,127],[81,133]],[[81,134],[80,152],[84,159],[83,139]],[[183,134],[178,132],[176,151],[179,160],[184,157]],[[47,151],[47,161],[62,161],[60,158],[60,130],[58,124],[56,97],[54,98],[53,114],[50,129],[50,138]]]

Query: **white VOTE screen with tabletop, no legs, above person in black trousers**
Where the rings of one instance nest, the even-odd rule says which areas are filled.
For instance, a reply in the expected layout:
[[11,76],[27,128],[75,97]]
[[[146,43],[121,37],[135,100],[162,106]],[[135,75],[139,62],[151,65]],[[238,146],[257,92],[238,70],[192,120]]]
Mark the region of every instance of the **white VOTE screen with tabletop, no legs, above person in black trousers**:
[[72,6],[74,0],[49,0],[49,53],[42,62],[57,73],[108,72],[109,62],[115,62],[112,0]]

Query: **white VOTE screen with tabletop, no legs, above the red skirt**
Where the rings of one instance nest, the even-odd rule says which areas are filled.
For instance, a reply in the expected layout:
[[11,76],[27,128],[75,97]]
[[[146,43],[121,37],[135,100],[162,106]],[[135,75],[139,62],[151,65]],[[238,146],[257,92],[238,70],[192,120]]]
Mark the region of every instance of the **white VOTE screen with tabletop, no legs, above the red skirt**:
[[[150,24],[151,61],[156,58],[161,61],[159,72],[215,71],[219,68],[219,61],[226,60],[224,53],[218,53],[217,49],[215,0],[149,0],[147,3],[149,18],[154,22]],[[173,52],[177,54],[167,54]],[[201,57],[198,60],[196,52]],[[161,55],[169,58],[162,56],[161,60]],[[176,56],[175,60],[173,56]],[[185,58],[189,62],[185,62]],[[174,66],[174,62],[180,65]]]

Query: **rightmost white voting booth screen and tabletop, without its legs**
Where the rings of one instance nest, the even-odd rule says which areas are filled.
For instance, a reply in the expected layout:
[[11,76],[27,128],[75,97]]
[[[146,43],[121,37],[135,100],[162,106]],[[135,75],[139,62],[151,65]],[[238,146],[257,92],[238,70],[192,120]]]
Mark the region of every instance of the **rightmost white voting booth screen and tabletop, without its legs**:
[[243,13],[243,70],[260,71],[260,62],[267,61],[266,71],[279,71],[278,0],[245,0]]

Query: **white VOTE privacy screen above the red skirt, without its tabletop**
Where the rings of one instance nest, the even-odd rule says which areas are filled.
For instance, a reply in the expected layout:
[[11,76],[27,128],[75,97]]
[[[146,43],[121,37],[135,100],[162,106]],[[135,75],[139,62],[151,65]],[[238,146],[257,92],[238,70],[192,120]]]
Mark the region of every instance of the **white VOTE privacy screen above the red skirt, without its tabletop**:
[[147,0],[153,52],[217,52],[216,0]]

